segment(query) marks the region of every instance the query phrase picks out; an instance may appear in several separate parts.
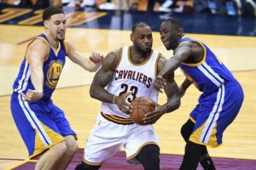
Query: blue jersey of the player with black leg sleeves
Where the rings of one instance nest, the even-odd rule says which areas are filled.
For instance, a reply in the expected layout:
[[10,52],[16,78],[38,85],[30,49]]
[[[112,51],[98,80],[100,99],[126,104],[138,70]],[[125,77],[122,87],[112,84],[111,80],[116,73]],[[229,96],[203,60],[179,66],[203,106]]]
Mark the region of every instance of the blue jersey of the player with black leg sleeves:
[[[181,43],[193,41],[189,38],[183,38]],[[181,70],[190,81],[195,84],[204,94],[212,94],[218,88],[227,82],[236,82],[235,77],[225,67],[225,65],[212,53],[212,51],[202,42],[201,47],[204,49],[204,57],[199,63],[180,65]]]

